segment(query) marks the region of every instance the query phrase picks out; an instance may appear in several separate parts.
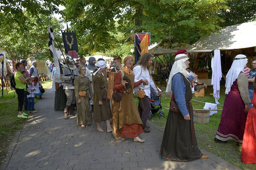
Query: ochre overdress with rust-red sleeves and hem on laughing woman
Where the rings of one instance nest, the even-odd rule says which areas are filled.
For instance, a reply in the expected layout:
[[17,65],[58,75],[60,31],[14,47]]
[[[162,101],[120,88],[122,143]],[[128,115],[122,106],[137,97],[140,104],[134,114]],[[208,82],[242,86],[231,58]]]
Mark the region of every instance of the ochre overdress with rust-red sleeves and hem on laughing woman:
[[[123,69],[122,69],[123,70]],[[120,102],[114,101],[113,109],[113,130],[117,137],[124,136],[129,138],[135,138],[140,133],[143,133],[142,121],[138,113],[137,105],[133,98],[133,89],[142,83],[142,80],[134,83],[134,74],[127,74],[124,71],[130,81],[132,89],[129,89],[130,94],[124,93],[121,98],[121,111]],[[121,71],[115,75],[114,90],[124,92],[124,87],[121,84]]]

